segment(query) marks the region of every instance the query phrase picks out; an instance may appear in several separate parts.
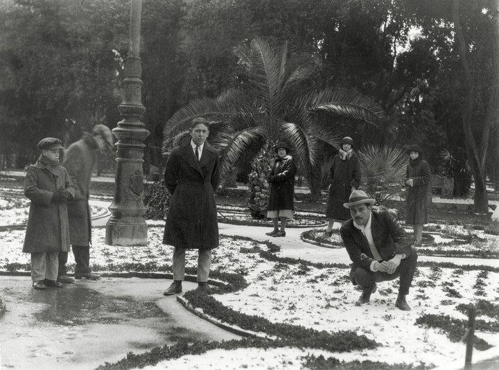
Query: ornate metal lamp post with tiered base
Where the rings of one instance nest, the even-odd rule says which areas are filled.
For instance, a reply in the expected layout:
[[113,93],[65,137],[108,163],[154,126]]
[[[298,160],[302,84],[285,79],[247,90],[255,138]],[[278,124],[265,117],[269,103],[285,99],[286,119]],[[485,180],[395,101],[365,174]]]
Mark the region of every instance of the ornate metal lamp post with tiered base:
[[146,245],[147,224],[143,215],[143,144],[149,135],[140,121],[146,108],[141,103],[140,27],[142,0],[130,1],[130,48],[125,60],[123,101],[118,109],[123,118],[112,130],[118,158],[112,216],[106,224],[107,245]]

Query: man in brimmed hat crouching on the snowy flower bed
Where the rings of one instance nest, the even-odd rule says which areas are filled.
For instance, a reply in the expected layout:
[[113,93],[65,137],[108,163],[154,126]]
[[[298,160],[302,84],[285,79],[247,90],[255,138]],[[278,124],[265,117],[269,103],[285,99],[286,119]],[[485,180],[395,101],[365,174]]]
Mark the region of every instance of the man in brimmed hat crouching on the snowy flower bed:
[[371,209],[374,202],[363,191],[353,191],[349,202],[343,204],[351,219],[343,224],[340,234],[353,263],[351,281],[362,287],[358,304],[369,302],[376,283],[400,276],[395,306],[408,311],[405,296],[416,271],[417,253],[392,215]]

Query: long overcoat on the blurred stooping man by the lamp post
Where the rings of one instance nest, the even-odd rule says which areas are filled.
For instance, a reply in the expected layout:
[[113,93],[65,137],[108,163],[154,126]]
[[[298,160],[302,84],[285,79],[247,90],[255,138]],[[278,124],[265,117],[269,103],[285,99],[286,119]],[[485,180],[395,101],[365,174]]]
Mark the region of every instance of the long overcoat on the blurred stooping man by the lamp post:
[[89,186],[97,161],[97,149],[91,134],[84,132],[82,139],[67,148],[62,161],[62,166],[67,169],[76,186],[75,199],[68,204],[71,244],[81,247],[91,243]]

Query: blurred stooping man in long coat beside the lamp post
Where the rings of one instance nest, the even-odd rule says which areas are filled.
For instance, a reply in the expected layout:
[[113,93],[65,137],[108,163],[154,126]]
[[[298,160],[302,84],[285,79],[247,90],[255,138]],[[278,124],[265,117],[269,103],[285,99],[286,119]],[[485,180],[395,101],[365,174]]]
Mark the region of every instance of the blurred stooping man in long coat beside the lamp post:
[[[89,210],[89,186],[92,171],[97,162],[99,150],[112,150],[113,139],[109,127],[95,125],[91,132],[83,132],[80,140],[72,143],[66,150],[64,166],[76,185],[76,195],[68,204],[69,231],[75,258],[75,278],[98,280],[100,276],[90,271],[91,223]],[[72,283],[67,276],[67,252],[59,254],[59,276],[61,283]]]

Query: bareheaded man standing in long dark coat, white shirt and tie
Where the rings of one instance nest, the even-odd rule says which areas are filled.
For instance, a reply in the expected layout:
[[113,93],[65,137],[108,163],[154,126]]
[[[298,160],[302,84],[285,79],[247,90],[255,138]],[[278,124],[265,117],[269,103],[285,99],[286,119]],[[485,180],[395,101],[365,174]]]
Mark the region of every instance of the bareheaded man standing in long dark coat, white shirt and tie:
[[172,195],[166,217],[163,243],[173,245],[173,283],[163,294],[182,292],[186,249],[198,249],[198,288],[207,285],[211,249],[218,247],[218,220],[215,204],[220,182],[218,151],[206,139],[209,122],[194,118],[191,141],[172,150],[164,182]]

